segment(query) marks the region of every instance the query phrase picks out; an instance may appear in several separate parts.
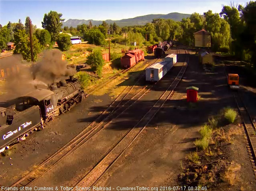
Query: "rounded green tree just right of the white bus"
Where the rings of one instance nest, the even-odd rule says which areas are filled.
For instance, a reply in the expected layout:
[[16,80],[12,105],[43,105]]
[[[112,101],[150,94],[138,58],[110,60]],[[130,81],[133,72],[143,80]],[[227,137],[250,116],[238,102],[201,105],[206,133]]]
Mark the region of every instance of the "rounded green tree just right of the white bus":
[[99,29],[92,28],[88,33],[84,35],[84,39],[86,39],[90,44],[106,44],[105,36],[102,34],[102,32],[100,32]]

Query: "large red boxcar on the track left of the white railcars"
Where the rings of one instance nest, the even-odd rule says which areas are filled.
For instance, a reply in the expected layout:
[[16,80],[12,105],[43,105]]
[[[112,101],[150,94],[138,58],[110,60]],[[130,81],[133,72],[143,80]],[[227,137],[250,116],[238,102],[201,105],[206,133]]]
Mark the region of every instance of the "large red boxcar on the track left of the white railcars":
[[130,68],[140,60],[144,60],[144,52],[141,49],[131,50],[121,58],[121,66]]

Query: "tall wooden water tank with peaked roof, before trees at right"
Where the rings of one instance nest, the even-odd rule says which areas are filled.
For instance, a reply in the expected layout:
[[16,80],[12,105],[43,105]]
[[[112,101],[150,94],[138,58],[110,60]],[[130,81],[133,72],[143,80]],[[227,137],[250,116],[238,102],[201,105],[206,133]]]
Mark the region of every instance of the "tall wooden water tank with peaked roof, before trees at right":
[[195,47],[211,47],[211,33],[202,29],[194,33]]

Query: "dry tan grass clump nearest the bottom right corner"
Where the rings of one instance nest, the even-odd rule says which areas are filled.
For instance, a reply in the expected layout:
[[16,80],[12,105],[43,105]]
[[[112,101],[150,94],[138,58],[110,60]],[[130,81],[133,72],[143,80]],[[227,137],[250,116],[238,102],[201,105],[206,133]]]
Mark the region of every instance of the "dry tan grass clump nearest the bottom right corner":
[[221,173],[220,177],[224,182],[233,186],[238,181],[238,171],[240,169],[241,165],[232,163],[223,173]]

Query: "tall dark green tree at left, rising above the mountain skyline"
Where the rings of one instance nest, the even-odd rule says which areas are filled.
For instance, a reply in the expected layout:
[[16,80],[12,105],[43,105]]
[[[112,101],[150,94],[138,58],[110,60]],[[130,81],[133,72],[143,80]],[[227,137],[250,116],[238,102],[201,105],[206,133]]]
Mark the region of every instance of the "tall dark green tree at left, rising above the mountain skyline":
[[62,19],[61,16],[61,13],[50,11],[48,14],[45,14],[43,18],[42,27],[50,32],[53,41],[57,39],[57,36],[61,31],[62,21],[65,20]]

